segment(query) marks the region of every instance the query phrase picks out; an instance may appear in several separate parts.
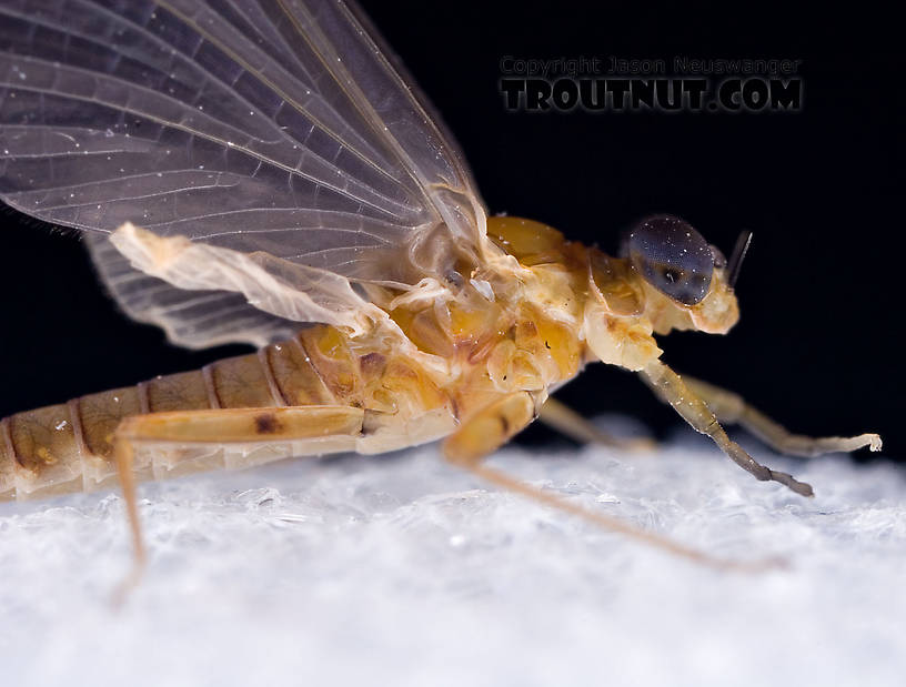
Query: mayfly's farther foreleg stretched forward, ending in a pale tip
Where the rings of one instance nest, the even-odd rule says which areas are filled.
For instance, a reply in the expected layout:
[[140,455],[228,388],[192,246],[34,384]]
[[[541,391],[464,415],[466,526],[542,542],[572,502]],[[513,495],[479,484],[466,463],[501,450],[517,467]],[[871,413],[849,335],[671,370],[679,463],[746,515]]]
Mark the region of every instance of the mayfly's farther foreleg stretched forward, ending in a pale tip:
[[880,451],[880,436],[877,434],[859,434],[858,436],[793,434],[733,392],[687,375],[683,375],[683,380],[686,386],[701,396],[721,422],[742,425],[781,453],[811,458],[825,453],[856,451],[864,446],[868,446],[870,451]]

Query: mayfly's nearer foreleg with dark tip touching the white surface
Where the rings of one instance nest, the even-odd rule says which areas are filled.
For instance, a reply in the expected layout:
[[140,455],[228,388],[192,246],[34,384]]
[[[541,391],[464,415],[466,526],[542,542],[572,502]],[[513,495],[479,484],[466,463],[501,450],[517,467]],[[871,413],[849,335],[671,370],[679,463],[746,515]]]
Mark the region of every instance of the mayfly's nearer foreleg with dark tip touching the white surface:
[[798,482],[786,473],[765,467],[748,455],[739,444],[731,441],[705,402],[683,382],[678,374],[664,363],[661,361],[648,363],[642,370],[642,378],[664,402],[670,403],[696,432],[707,434],[721,451],[739,467],[748,471],[763,482],[779,482],[797,494],[814,496],[811,485]]

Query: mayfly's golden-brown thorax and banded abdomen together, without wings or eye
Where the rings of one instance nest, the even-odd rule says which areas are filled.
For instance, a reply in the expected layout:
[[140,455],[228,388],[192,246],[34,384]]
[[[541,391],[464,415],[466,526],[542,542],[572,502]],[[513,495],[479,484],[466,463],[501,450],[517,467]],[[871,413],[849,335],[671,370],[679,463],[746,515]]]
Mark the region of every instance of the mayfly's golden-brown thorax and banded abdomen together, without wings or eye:
[[[167,240],[134,228],[121,231],[157,251],[168,250],[159,245]],[[153,415],[147,440],[164,437],[133,461],[143,477],[306,453],[380,453],[450,434],[451,455],[481,457],[533,420],[548,390],[571,380],[586,362],[606,357],[642,368],[656,360],[655,325],[645,303],[654,302],[661,329],[676,324],[671,323],[675,314],[651,294],[646,301],[626,261],[568,243],[560,232],[526,220],[492,218],[490,235],[499,246],[491,260],[469,275],[447,274],[446,285],[426,283],[404,295],[372,287],[379,314],[366,334],[310,326],[258,354],[2,421],[0,493],[29,497],[107,484],[115,477],[120,423],[140,415]],[[703,309],[696,315],[704,317],[702,326],[724,330],[736,320],[735,299],[726,287],[714,290],[707,307],[716,315],[706,325],[709,315]],[[522,413],[516,421],[503,414],[491,432],[457,433],[501,400]],[[311,410],[325,406],[331,410]],[[288,407],[308,410],[276,411]],[[239,408],[260,411],[218,413]],[[214,413],[192,415],[199,411]],[[300,414],[312,418],[302,435],[291,420]],[[209,443],[228,436],[229,425],[236,423],[245,426],[240,434],[250,445],[240,442],[225,452],[161,446],[180,437],[200,441],[192,423],[201,427],[217,415],[223,420],[212,425]],[[293,441],[274,445],[281,438]],[[254,446],[262,442],[269,445]]]

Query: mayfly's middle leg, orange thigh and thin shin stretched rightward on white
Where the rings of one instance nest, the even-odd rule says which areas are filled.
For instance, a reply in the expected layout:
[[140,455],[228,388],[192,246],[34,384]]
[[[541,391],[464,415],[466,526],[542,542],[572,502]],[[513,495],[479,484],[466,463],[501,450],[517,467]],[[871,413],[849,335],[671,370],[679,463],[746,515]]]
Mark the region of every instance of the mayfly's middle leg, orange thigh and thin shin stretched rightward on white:
[[566,498],[555,496],[531,484],[526,484],[506,473],[487,467],[483,459],[499,448],[513,435],[522,431],[534,418],[535,402],[531,394],[521,392],[504,396],[491,404],[481,413],[466,421],[455,434],[444,442],[444,454],[452,464],[471,472],[491,484],[514,492],[545,506],[556,508],[606,529],[654,546],[671,554],[689,558],[696,563],[723,569],[738,569],[746,572],[764,570],[777,565],[777,560],[738,562],[709,556],[704,552],[683,546],[667,537],[662,537],[640,527],[634,527],[617,518],[608,517],[583,506],[576,505]]

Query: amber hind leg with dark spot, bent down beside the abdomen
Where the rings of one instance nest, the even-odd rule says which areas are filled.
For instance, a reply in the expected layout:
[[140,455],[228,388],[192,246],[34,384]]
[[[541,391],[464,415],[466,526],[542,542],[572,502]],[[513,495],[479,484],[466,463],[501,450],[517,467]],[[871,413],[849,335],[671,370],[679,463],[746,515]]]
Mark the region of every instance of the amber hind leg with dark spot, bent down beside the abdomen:
[[125,417],[113,435],[113,453],[135,553],[127,587],[139,578],[145,562],[132,469],[137,448],[191,452],[204,446],[253,449],[283,445],[285,451],[273,459],[321,455],[353,451],[363,420],[364,411],[344,405],[174,411]]

